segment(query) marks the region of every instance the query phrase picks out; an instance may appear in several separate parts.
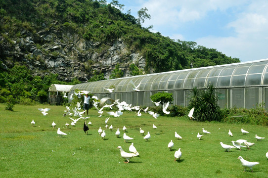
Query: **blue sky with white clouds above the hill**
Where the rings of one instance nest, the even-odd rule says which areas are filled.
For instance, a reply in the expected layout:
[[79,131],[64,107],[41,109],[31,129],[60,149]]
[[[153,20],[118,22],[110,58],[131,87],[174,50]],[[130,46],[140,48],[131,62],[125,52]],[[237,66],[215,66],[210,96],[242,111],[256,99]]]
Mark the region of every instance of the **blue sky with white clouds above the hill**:
[[[107,0],[111,2],[112,0]],[[174,40],[215,48],[242,62],[268,58],[268,0],[118,0],[123,13],[146,7],[153,26]]]

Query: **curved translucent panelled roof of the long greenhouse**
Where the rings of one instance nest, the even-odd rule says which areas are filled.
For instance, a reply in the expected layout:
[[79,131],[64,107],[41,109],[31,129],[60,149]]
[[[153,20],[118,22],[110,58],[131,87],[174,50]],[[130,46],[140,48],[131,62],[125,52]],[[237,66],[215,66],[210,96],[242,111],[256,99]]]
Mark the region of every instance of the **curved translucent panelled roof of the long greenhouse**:
[[90,82],[72,89],[107,93],[103,88],[114,87],[114,92],[131,92],[131,81],[135,86],[140,83],[140,91],[205,88],[208,84],[217,88],[263,86],[268,85],[268,59]]

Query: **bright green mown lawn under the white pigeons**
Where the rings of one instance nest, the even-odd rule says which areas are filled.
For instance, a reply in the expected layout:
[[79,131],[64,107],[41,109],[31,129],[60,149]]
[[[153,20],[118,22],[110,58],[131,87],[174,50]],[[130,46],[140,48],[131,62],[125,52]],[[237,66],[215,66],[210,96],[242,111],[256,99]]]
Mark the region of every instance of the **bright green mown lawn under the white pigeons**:
[[[51,108],[43,116],[38,108]],[[118,118],[110,117],[108,125],[113,125],[111,132],[105,129],[106,111],[101,118],[95,110],[89,110],[89,134],[83,131],[83,119],[75,127],[68,117],[63,117],[63,106],[23,106],[15,105],[14,111],[4,109],[0,104],[0,177],[1,178],[268,178],[268,127],[252,125],[230,125],[224,123],[204,123],[187,120],[186,117],[160,116],[154,119],[142,113],[124,112]],[[32,127],[31,121],[36,122]],[[51,123],[56,123],[55,129]],[[155,124],[158,129],[153,130]],[[134,157],[125,164],[117,146],[129,152],[130,143],[124,142],[123,126],[126,134],[134,137],[132,141],[139,157]],[[71,125],[70,125],[71,126]],[[68,135],[59,137],[57,128]],[[97,133],[101,127],[106,132],[103,140]],[[115,132],[120,129],[120,137]],[[150,131],[151,138],[145,141],[139,133]],[[202,128],[211,132],[201,140],[196,137]],[[249,131],[242,134],[241,128]],[[233,137],[228,136],[231,130]],[[177,140],[175,131],[182,136]],[[256,141],[255,134],[266,137]],[[220,141],[232,145],[231,140],[246,139],[255,142],[250,150],[242,148],[226,152]],[[168,143],[173,140],[170,151]],[[174,161],[174,153],[181,148],[180,161]],[[243,172],[238,156],[251,162],[259,162],[253,167],[253,173]]]

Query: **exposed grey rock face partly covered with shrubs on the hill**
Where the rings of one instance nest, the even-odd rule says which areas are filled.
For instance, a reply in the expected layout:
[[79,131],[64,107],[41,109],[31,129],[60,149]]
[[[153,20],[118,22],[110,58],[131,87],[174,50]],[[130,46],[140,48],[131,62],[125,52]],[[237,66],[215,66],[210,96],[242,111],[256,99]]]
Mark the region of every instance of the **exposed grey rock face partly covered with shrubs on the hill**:
[[[119,39],[106,44],[94,43],[64,30],[49,29],[36,34],[21,32],[20,39],[7,41],[0,35],[0,60],[4,70],[12,68],[15,62],[26,65],[34,75],[58,74],[59,80],[70,82],[77,78],[87,82],[93,71],[109,78],[116,64],[130,76],[129,65],[145,66],[145,59],[138,53],[131,53]],[[5,34],[8,36],[8,34]]]

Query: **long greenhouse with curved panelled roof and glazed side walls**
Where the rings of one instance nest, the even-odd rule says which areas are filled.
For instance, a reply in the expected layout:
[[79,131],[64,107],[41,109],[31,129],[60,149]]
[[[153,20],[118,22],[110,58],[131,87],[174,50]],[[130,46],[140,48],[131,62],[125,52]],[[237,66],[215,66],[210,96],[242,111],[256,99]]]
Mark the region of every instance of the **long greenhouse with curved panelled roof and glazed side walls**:
[[[134,91],[131,81],[135,86],[140,83],[139,91]],[[83,83],[73,86],[69,95],[74,89],[88,90],[100,99],[153,106],[150,96],[165,91],[173,93],[174,105],[187,106],[190,90],[205,89],[209,84],[217,88],[222,108],[253,108],[268,103],[268,59]]]

